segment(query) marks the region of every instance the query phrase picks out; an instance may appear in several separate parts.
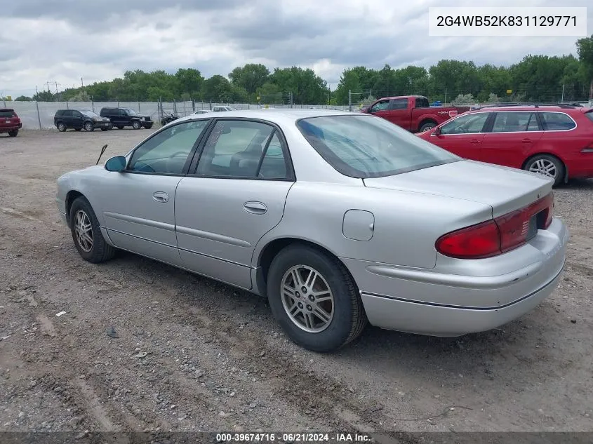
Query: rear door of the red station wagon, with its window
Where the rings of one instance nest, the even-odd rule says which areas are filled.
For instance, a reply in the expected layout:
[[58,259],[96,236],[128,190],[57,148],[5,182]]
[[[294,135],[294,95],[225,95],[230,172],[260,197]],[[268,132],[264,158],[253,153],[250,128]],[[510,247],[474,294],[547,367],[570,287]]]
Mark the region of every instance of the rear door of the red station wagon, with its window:
[[494,114],[481,144],[479,160],[521,168],[543,135],[537,113],[534,110]]

